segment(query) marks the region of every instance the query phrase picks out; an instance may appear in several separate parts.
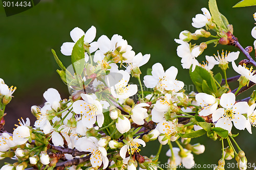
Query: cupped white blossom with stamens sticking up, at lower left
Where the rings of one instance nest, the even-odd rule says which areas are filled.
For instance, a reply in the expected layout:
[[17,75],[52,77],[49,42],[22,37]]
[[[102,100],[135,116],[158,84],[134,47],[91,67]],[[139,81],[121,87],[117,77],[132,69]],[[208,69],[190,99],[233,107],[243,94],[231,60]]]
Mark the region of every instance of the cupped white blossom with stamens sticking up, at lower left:
[[19,120],[19,125],[20,126],[17,126],[17,128],[13,131],[13,141],[20,145],[26,143],[31,135],[31,131],[28,128],[28,126],[30,126],[29,118],[26,119],[26,123],[24,122],[23,118],[22,122]]

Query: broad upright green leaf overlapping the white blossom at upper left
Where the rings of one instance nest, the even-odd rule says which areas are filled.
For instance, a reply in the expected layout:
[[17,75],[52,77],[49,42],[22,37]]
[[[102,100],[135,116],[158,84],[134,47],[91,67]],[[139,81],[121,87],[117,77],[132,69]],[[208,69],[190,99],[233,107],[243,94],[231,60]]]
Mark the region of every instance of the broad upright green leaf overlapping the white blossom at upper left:
[[84,63],[86,62],[84,60],[83,38],[84,35],[75,43],[71,54],[71,61],[74,71],[79,76],[82,74]]

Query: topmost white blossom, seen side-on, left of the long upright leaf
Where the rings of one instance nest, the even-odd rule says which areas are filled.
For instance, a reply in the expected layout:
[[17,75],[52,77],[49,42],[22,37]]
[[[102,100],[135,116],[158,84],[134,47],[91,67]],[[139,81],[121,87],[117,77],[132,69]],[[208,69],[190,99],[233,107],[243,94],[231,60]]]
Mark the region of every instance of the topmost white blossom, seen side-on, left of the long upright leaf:
[[206,8],[202,8],[201,10],[203,11],[203,14],[197,14],[195,18],[192,18],[192,26],[195,28],[202,28],[208,21],[210,21],[210,12]]

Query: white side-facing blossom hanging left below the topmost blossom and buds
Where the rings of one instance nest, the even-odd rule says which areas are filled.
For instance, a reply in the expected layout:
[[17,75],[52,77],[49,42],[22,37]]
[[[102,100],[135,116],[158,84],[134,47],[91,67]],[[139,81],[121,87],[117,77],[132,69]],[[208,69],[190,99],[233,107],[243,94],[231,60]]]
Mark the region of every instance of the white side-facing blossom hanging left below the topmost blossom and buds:
[[[174,39],[177,43],[181,44],[177,47],[177,55],[182,58],[181,59],[181,65],[183,68],[189,69],[191,65],[192,71],[195,70],[196,65],[199,64],[197,61],[198,55],[201,53],[199,48],[196,48],[194,52],[192,53],[193,49],[190,49],[190,46],[187,42],[182,41],[180,39]],[[198,50],[200,53],[198,53]]]

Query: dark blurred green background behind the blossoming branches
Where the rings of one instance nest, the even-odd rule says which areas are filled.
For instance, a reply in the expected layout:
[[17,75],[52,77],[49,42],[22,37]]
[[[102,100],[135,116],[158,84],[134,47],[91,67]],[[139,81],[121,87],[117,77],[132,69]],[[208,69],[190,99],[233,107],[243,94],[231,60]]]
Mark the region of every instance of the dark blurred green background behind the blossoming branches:
[[[217,1],[220,12],[233,25],[234,35],[245,47],[252,45],[254,41],[250,32],[255,22],[252,14],[256,10],[255,7],[232,8],[237,2],[239,1]],[[21,116],[31,117],[32,125],[35,119],[30,114],[30,107],[44,104],[42,93],[48,88],[59,90],[62,98],[69,96],[68,88],[55,71],[58,66],[51,54],[51,48],[56,51],[63,64],[70,65],[70,57],[60,53],[60,46],[63,42],[72,41],[70,31],[75,27],[86,31],[92,25],[95,26],[96,40],[102,34],[110,38],[113,34],[122,35],[133,46],[136,54],[151,54],[150,62],[141,68],[142,76],[145,75],[147,67],[160,62],[165,69],[176,66],[179,69],[177,79],[186,85],[192,84],[188,70],[182,70],[180,58],[176,54],[178,44],[174,39],[178,38],[183,30],[196,31],[191,26],[191,18],[201,13],[201,8],[207,7],[207,3],[206,0],[45,0],[28,11],[10,17],[6,17],[4,8],[0,7],[0,78],[9,86],[17,86],[15,98],[6,109],[6,128],[11,131],[14,123],[17,124],[17,118]],[[213,45],[209,45],[199,60],[205,60],[205,55],[212,55],[222,49],[237,51],[233,46],[218,45],[213,48]],[[240,55],[240,59],[244,59],[244,56]],[[219,71],[218,66],[214,71]],[[237,75],[233,73],[232,68],[227,74]],[[238,82],[231,84],[232,88],[237,86]],[[254,163],[255,128],[253,135],[246,130],[239,132],[238,142],[245,151],[248,162]],[[205,154],[195,156],[196,163],[217,164],[221,157],[221,142],[214,142],[206,137],[191,141],[196,142],[206,145]],[[150,142],[142,153],[150,156],[156,154],[157,149],[157,143]],[[164,146],[163,149],[160,161],[165,163],[165,151],[168,147]]]

